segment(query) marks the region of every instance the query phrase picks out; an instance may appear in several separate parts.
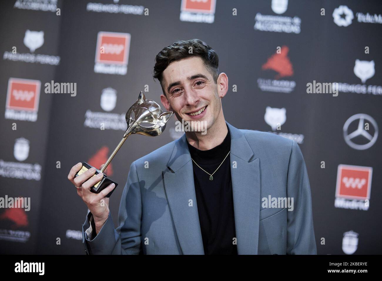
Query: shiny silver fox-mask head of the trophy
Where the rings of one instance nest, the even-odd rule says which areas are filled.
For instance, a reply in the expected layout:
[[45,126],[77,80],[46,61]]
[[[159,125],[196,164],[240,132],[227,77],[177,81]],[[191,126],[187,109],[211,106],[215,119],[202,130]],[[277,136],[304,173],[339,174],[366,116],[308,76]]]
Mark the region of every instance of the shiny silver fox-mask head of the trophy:
[[172,111],[163,112],[155,101],[146,99],[143,92],[126,113],[127,130],[124,137],[131,134],[158,136],[166,128]]

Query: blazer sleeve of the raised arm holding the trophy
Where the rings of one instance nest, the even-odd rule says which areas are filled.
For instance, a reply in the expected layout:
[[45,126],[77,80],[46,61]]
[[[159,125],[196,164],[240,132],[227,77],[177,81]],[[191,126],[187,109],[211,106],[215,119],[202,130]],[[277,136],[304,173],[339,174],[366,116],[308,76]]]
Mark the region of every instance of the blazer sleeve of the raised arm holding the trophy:
[[121,197],[117,229],[114,229],[109,213],[105,224],[93,238],[92,214],[89,212],[82,229],[85,252],[90,255],[138,255],[141,250],[141,216],[141,190],[133,162]]

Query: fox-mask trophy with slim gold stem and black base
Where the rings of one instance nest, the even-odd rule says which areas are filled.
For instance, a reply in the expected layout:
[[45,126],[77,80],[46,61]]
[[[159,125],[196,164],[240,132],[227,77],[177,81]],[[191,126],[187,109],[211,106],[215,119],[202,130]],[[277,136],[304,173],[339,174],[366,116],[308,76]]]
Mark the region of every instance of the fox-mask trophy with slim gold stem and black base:
[[[99,173],[103,173],[107,168],[110,161],[112,161],[113,157],[117,153],[117,151],[121,148],[125,140],[129,135],[132,134],[141,134],[145,136],[159,136],[166,128],[166,123],[170,120],[172,111],[163,112],[162,108],[155,101],[151,99],[146,99],[143,92],[139,93],[137,101],[129,108],[126,113],[126,122],[127,122],[127,130],[123,135],[122,140],[114,149],[113,153],[110,155],[109,159],[107,159],[105,165],[102,169],[98,170],[97,168],[93,177]],[[82,168],[76,174],[76,177],[86,172],[88,169],[92,168],[91,165],[86,162],[82,162]],[[109,192],[106,197],[110,197],[113,191],[117,187],[117,183],[108,179],[104,174],[102,180],[97,182],[93,187],[91,187],[91,192],[100,193],[108,185],[114,183],[114,189]]]

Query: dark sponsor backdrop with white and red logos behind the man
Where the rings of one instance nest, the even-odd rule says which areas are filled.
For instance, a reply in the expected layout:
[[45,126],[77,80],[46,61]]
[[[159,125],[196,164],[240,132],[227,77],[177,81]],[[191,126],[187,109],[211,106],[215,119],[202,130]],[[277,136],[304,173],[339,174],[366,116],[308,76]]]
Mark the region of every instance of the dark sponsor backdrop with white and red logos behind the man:
[[[85,254],[68,172],[106,161],[139,92],[160,101],[155,55],[193,38],[228,75],[226,120],[299,144],[317,252],[382,253],[379,1],[17,0],[0,15],[1,253]],[[114,223],[131,162],[179,138],[175,121],[108,167]]]

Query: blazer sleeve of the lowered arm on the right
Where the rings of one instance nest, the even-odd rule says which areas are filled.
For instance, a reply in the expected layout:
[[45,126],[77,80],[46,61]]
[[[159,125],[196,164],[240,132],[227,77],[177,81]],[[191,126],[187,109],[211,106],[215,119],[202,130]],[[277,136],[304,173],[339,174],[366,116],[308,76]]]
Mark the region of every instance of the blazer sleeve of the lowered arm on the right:
[[316,255],[312,199],[303,154],[293,141],[287,179],[287,197],[293,198],[293,211],[287,213],[287,255]]

